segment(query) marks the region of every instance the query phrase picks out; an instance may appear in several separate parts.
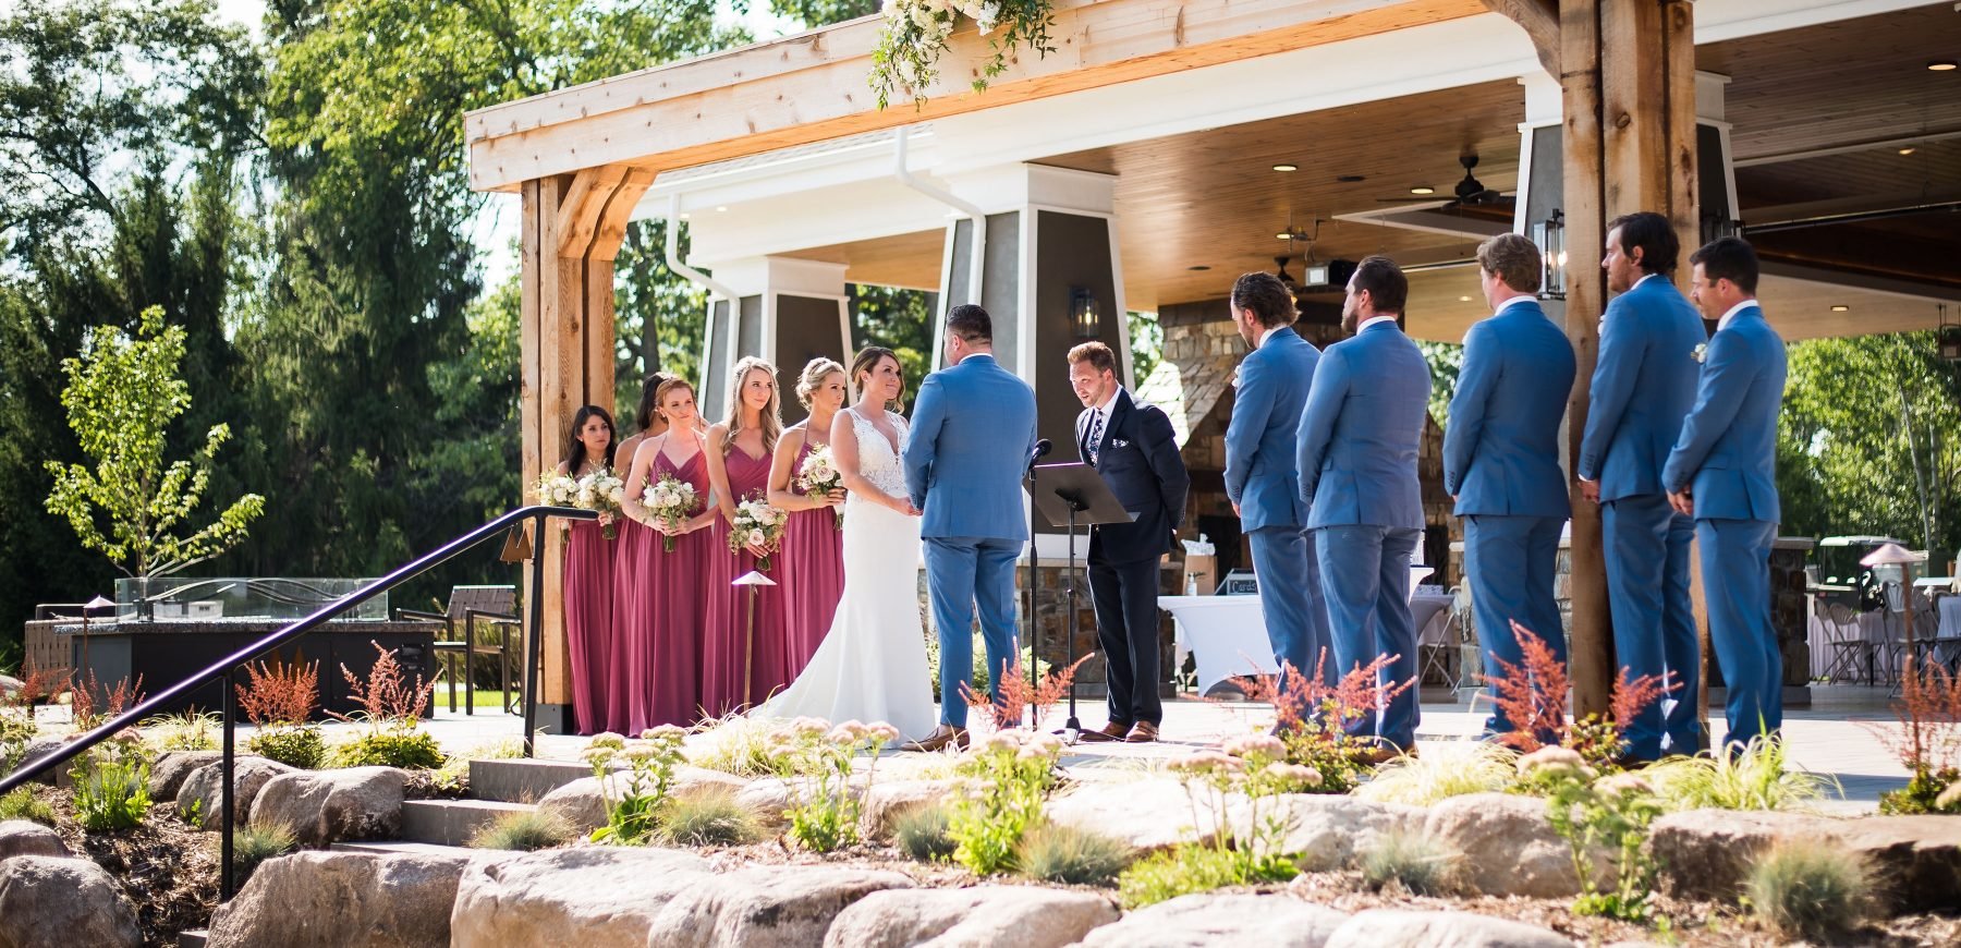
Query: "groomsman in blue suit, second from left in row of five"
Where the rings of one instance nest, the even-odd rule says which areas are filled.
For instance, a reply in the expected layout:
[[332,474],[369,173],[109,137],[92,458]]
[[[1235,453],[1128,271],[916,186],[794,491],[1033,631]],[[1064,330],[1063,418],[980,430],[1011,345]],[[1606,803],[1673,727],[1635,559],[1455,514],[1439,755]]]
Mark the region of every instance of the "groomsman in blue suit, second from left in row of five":
[[1410,553],[1424,536],[1416,449],[1430,416],[1430,365],[1396,318],[1410,281],[1388,257],[1355,267],[1341,328],[1355,334],[1322,353],[1300,416],[1300,499],[1322,567],[1322,595],[1347,673],[1392,659],[1379,685],[1412,683],[1349,726],[1377,738],[1365,762],[1416,754],[1416,622],[1410,618]]

